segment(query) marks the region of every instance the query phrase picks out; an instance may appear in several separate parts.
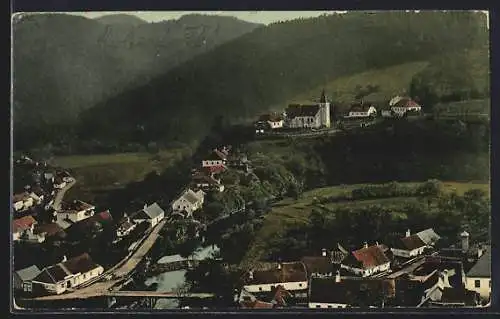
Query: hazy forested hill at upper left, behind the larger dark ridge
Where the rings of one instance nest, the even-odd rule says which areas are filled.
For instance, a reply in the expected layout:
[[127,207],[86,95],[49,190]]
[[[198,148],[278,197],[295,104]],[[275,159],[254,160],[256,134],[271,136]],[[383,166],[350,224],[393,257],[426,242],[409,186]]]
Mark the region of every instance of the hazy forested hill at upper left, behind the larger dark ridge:
[[259,26],[205,15],[158,23],[126,15],[99,19],[17,15],[13,22],[17,142],[34,142],[47,128],[68,123],[81,110]]

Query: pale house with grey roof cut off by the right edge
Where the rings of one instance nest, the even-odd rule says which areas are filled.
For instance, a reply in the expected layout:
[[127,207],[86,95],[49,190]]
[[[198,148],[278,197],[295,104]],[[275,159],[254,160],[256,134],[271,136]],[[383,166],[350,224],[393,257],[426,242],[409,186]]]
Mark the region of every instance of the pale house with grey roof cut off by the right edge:
[[479,293],[482,299],[491,297],[491,247],[486,247],[477,263],[467,272],[465,287]]

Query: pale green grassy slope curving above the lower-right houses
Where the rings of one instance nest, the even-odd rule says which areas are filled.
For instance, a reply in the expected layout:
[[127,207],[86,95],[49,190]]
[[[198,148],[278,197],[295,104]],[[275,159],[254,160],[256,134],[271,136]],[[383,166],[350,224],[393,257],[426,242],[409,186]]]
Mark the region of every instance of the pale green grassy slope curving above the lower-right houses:
[[[412,186],[419,183],[400,183],[401,185]],[[490,185],[488,183],[459,183],[459,182],[443,182],[443,190],[445,192],[457,192],[457,194],[462,195],[464,192],[470,189],[479,188],[484,190],[488,196],[490,194]],[[326,205],[315,204],[313,200],[315,197],[322,196],[339,196],[353,189],[366,186],[363,184],[357,185],[341,185],[333,187],[324,187],[314,189],[305,192],[299,200],[294,200],[291,198],[284,199],[276,203],[271,212],[265,216],[263,227],[258,231],[255,236],[255,241],[248,249],[245,258],[242,261],[242,265],[248,265],[253,261],[258,261],[262,254],[267,250],[267,243],[270,242],[272,238],[281,236],[288,229],[293,228],[297,225],[304,225],[308,223],[309,215],[311,214],[313,208],[334,208],[340,206],[369,206],[369,205],[384,205],[385,207],[396,206],[400,207],[402,204],[409,203],[411,201],[418,201],[415,197],[395,197],[395,198],[382,198],[382,199],[369,199],[369,200],[358,200],[353,202],[339,202],[339,203],[329,203]]]

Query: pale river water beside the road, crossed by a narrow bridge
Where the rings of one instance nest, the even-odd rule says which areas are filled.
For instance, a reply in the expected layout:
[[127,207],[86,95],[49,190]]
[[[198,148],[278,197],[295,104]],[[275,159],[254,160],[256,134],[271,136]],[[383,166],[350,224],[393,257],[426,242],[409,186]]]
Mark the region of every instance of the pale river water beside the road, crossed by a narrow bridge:
[[[219,248],[217,246],[205,247],[198,251],[193,259],[195,260],[204,260],[213,255],[213,253],[217,252]],[[172,262],[174,260],[183,260],[180,255],[172,255],[172,256],[164,256],[158,263],[166,263]],[[172,291],[176,289],[178,286],[183,285],[185,283],[184,275],[186,274],[186,270],[176,270],[165,272],[150,278],[147,278],[144,282],[147,286],[152,284],[157,284],[156,291]],[[178,299],[159,299],[156,303],[155,309],[177,309],[179,307]]]

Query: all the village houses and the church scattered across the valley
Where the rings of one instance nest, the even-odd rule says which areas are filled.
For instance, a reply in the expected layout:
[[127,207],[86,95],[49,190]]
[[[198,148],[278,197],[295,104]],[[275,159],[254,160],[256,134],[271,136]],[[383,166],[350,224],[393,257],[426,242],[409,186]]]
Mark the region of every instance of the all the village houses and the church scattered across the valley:
[[[329,122],[325,119],[329,115],[328,102],[324,102],[324,93],[321,100],[315,108],[316,114],[304,111],[304,106],[292,106],[291,109],[298,110],[291,112],[295,114],[292,126],[328,127]],[[415,108],[409,101],[404,103],[409,105],[408,109]],[[360,116],[352,112],[348,117]],[[405,114],[404,111],[393,113]],[[363,116],[370,115],[368,111]],[[271,118],[269,121],[270,127],[276,123]],[[309,126],[310,123],[313,125]],[[127,239],[130,243],[130,238],[132,241],[140,239],[164,219],[168,223],[188,221],[186,225],[194,228],[189,233],[179,229],[178,236],[202,238],[203,241],[207,224],[196,218],[206,207],[207,194],[226,190],[221,179],[226,170],[252,171],[252,163],[245,154],[231,146],[215,148],[192,169],[191,182],[170,206],[144,203],[142,209],[124,213],[121,219],[114,221],[108,209],[96,211],[90,203],[63,201],[65,190],[77,182],[67,171],[27,157],[19,159],[15,165],[26,175],[31,173],[32,179],[25,182],[24,192],[13,196],[12,240],[30,245],[50,241],[53,247],[74,237],[75,231],[77,234],[92,233],[107,227],[113,229],[109,240],[114,244],[127,242]],[[235,212],[244,211],[243,207]],[[489,302],[491,252],[487,243],[469,242],[469,234],[464,231],[457,245],[436,248],[440,235],[433,229],[404,232],[405,235],[394,243],[365,242],[363,247],[353,251],[338,243],[334,250],[317,247],[318,254],[303,256],[294,262],[258,264],[243,272],[242,286],[235,301],[239,307],[251,309],[294,305],[309,308],[469,307]],[[129,254],[135,248],[134,243],[128,248]],[[83,252],[71,258],[64,256],[53,265],[15,267],[14,284],[18,293],[24,296],[63,294],[102,280],[104,272],[105,268],[93,261],[91,253]]]

